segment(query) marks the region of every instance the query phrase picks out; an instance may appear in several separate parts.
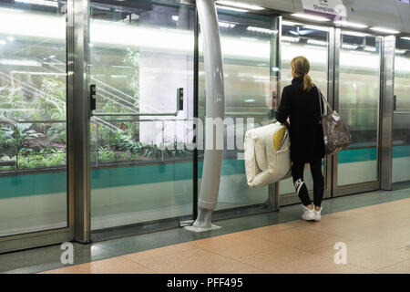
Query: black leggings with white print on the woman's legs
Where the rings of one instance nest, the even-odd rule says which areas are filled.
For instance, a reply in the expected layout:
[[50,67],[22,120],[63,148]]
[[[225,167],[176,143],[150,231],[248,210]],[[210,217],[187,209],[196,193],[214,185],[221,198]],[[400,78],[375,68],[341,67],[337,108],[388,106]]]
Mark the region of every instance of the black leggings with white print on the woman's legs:
[[[305,206],[310,205],[311,198],[306,187],[306,183],[303,181],[303,169],[305,163],[293,163],[292,165],[292,177],[293,184],[301,198],[302,204]],[[313,177],[313,197],[314,205],[320,207],[323,200],[324,179],[322,174],[322,159],[314,162],[309,162],[311,165],[311,172]]]

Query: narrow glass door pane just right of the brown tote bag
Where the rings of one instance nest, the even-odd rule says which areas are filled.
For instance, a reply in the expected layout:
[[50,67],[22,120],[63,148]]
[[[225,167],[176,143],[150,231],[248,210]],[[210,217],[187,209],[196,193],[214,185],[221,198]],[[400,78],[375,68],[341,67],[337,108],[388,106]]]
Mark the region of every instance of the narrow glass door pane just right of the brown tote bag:
[[337,154],[336,188],[379,180],[382,37],[342,31],[340,46],[336,109],[351,131],[353,143]]

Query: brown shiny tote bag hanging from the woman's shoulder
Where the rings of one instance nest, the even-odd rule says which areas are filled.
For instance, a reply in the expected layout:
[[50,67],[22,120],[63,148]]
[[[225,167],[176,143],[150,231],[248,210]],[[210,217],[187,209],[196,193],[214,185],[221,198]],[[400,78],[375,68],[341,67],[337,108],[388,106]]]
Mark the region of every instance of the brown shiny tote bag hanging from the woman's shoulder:
[[[344,147],[349,146],[352,143],[352,135],[347,127],[343,124],[342,118],[336,112],[332,110],[329,103],[324,99],[322,91],[319,92],[319,105],[321,107],[321,121],[323,127],[323,140],[324,149],[326,155],[332,155],[341,151]],[[321,99],[327,104],[329,111],[326,115],[322,111]]]

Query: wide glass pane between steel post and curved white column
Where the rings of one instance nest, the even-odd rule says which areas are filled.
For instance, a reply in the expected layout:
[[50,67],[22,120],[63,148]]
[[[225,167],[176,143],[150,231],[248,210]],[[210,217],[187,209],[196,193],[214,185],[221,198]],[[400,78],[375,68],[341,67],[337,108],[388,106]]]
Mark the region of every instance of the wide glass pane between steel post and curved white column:
[[194,16],[174,1],[90,4],[94,231],[192,214]]

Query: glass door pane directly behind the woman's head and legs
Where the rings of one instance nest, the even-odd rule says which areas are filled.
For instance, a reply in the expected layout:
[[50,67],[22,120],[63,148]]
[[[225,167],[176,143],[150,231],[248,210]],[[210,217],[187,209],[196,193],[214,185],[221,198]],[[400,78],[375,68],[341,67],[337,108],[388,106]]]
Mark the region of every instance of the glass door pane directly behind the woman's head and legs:
[[[292,83],[291,60],[293,57],[307,57],[311,64],[309,75],[313,83],[322,90],[323,96],[328,95],[328,55],[330,48],[330,28],[324,26],[310,26],[288,20],[282,21],[281,36],[281,90]],[[291,121],[292,122],[292,121]],[[325,173],[325,160],[323,160],[323,174]],[[324,175],[326,178],[326,175]],[[304,181],[309,191],[313,190],[312,174],[309,164],[305,166]],[[325,180],[326,182],[326,180]],[[327,185],[327,183],[326,183]],[[279,192],[282,195],[282,204],[297,203],[299,198],[294,194],[285,199],[283,195],[295,193],[292,178],[279,183]],[[327,193],[324,194],[326,196]]]

